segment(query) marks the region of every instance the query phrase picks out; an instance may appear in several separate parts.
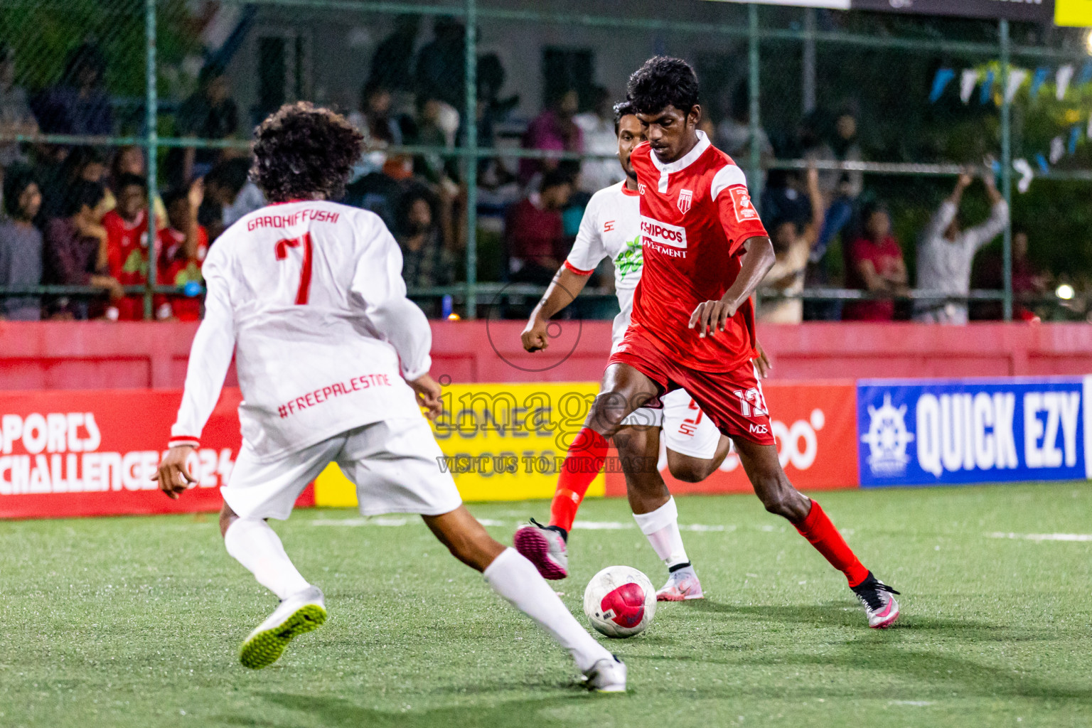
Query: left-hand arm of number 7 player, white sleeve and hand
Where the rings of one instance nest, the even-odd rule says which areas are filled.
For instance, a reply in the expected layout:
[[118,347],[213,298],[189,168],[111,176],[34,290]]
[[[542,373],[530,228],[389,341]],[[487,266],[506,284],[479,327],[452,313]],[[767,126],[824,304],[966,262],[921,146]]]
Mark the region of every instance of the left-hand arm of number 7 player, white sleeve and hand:
[[159,482],[159,490],[176,500],[194,482],[186,458],[201,441],[201,431],[219,398],[235,351],[235,323],[227,283],[219,276],[214,260],[205,263],[204,274],[209,289],[205,315],[190,347],[186,391],[178,418],[170,428],[170,450],[153,476]]

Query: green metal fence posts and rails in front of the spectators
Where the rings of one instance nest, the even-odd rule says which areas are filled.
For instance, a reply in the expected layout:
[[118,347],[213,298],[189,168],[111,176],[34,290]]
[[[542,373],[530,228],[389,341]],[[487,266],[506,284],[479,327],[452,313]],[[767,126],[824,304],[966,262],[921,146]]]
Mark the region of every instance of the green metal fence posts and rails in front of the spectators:
[[[158,19],[161,14],[178,16],[187,12],[185,3],[178,0],[112,0],[106,3],[95,3],[87,0],[83,4],[90,3],[98,10],[112,13],[114,15],[133,15],[142,13],[144,20],[143,34],[143,57],[145,61],[145,83],[142,102],[129,99],[129,105],[139,110],[143,107],[143,115],[139,112],[130,114],[132,118],[143,116],[142,123],[138,124],[135,133],[127,135],[79,135],[79,134],[0,134],[0,143],[3,142],[26,142],[33,144],[56,144],[56,145],[140,145],[146,151],[147,175],[151,181],[149,190],[150,204],[158,194],[161,182],[159,160],[164,151],[173,147],[194,147],[194,148],[235,148],[247,150],[249,142],[242,139],[230,140],[209,140],[178,138],[159,135],[158,130],[163,126],[161,118],[159,86],[163,83],[162,69],[159,67],[157,48],[164,40]],[[763,163],[760,156],[759,139],[762,135],[762,45],[764,43],[795,41],[809,46],[816,44],[844,46],[853,49],[887,49],[903,50],[915,53],[934,55],[956,55],[956,56],[982,56],[985,58],[999,58],[999,87],[1004,88],[1009,79],[1009,72],[1013,68],[1013,57],[1028,59],[1038,59],[1044,61],[1083,61],[1087,59],[1087,51],[1083,48],[1051,47],[1046,45],[1017,45],[1010,36],[1009,22],[1000,20],[997,22],[996,43],[961,40],[945,37],[895,37],[889,35],[869,35],[846,31],[819,31],[816,28],[815,10],[794,9],[800,13],[803,23],[793,22],[788,27],[768,27],[761,22],[762,13],[770,11],[769,8],[761,9],[757,4],[748,4],[743,8],[732,10],[737,22],[732,23],[709,23],[674,21],[657,17],[624,17],[609,15],[592,15],[565,11],[551,11],[549,9],[535,8],[500,8],[484,7],[477,0],[463,0],[451,4],[417,4],[406,2],[370,2],[356,0],[253,0],[242,3],[229,0],[226,5],[238,5],[241,8],[277,7],[282,9],[306,9],[308,11],[331,11],[331,12],[353,12],[371,13],[381,15],[393,14],[418,14],[430,16],[447,16],[456,19],[465,24],[464,43],[464,64],[465,64],[465,104],[460,111],[464,118],[476,118],[477,107],[477,74],[476,63],[478,58],[477,34],[478,24],[483,21],[499,23],[523,23],[523,24],[546,24],[561,26],[582,26],[597,28],[617,28],[634,33],[677,33],[684,35],[714,35],[732,38],[746,39],[748,44],[747,53],[747,80],[749,87],[749,128],[750,128],[750,155],[747,159],[740,159],[741,166],[748,170],[748,176],[760,177],[770,169],[804,169],[809,165],[819,169],[860,171],[869,176],[911,176],[922,178],[954,178],[966,170],[968,164],[960,163],[882,163],[882,162],[815,162],[807,159],[772,159]],[[541,4],[541,3],[539,3]],[[0,12],[20,12],[28,8],[45,9],[58,13],[69,10],[51,0],[0,0]],[[779,11],[784,9],[779,9]],[[739,13],[744,13],[740,16]],[[741,17],[746,22],[738,22]],[[130,17],[131,20],[131,17]],[[11,25],[9,23],[9,25]],[[40,39],[41,36],[39,36]],[[64,41],[63,37],[55,37],[57,41]],[[1063,38],[1065,41],[1067,38]],[[67,38],[69,46],[81,40],[80,36],[72,35]],[[9,39],[16,52],[20,38]],[[57,53],[57,49],[37,49],[43,52]],[[812,61],[814,62],[814,61]],[[54,63],[56,65],[56,63]],[[814,73],[814,69],[812,69]],[[814,79],[812,79],[814,84]],[[812,88],[814,94],[814,88]],[[999,177],[1001,191],[1005,199],[1012,200],[1013,192],[1013,130],[1011,123],[1012,103],[1007,94],[999,94]],[[486,159],[492,157],[505,157],[514,159],[524,158],[550,158],[550,159],[573,159],[583,160],[590,158],[613,158],[613,155],[578,154],[542,152],[536,150],[506,148],[506,147],[482,147],[478,145],[476,124],[466,124],[466,133],[461,143],[453,147],[449,146],[424,146],[403,145],[385,147],[392,154],[438,155],[442,158],[454,158],[461,163],[462,187],[465,189],[465,281],[452,286],[430,287],[412,290],[412,295],[420,298],[436,298],[452,296],[458,303],[461,303],[467,318],[478,315],[480,303],[498,296],[537,296],[543,288],[538,286],[513,286],[509,284],[479,282],[477,279],[477,165],[470,164],[472,159]],[[1092,181],[1092,170],[1048,169],[1036,174],[1036,178],[1057,181]],[[756,203],[760,202],[761,188],[756,189]],[[1013,310],[1012,293],[1012,223],[1011,219],[1005,227],[1002,239],[1002,261],[1004,261],[1004,289],[997,290],[972,290],[966,296],[946,296],[943,300],[1000,300],[1004,307],[1004,318],[1010,320]],[[140,288],[128,288],[127,293],[142,293],[144,295],[145,318],[153,318],[153,297],[158,293],[180,294],[182,289],[174,286],[164,286],[156,281],[155,266],[150,266],[147,284]],[[10,295],[26,294],[70,294],[81,296],[95,296],[100,291],[91,287],[80,286],[33,286],[33,287],[0,287],[0,297]],[[591,296],[607,297],[609,291],[591,289]],[[895,298],[899,300],[938,299],[936,294],[925,294],[911,291],[901,296],[876,296],[866,291],[840,289],[840,288],[817,288],[805,289],[800,294],[793,296],[773,295],[772,297],[803,298],[805,300],[852,300],[871,298]],[[1038,302],[1056,303],[1056,299],[1045,296],[1030,299]]]

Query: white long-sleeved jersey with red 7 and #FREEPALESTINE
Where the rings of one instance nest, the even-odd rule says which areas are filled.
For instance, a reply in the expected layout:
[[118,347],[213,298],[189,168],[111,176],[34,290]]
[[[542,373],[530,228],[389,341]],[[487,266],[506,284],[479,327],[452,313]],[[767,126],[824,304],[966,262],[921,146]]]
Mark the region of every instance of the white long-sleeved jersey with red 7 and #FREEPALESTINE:
[[422,416],[405,380],[428,373],[431,332],[377,215],[322,201],[270,205],[228,228],[202,273],[205,315],[173,446],[200,441],[233,353],[244,443],[260,460]]

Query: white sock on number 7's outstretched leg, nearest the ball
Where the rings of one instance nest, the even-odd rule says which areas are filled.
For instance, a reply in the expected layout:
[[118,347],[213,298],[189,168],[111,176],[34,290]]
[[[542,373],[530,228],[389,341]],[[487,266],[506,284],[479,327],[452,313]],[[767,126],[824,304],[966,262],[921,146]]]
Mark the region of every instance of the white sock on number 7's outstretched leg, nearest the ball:
[[580,625],[549,584],[515,549],[505,549],[485,572],[485,581],[497,594],[549,632],[569,651],[581,671],[610,653]]

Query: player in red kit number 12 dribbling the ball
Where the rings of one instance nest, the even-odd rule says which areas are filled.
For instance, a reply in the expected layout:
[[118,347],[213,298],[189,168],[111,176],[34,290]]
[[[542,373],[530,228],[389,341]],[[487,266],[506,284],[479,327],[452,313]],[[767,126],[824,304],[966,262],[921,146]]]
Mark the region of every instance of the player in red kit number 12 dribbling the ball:
[[[569,447],[558,493],[579,503],[622,419],[684,389],[733,440],[765,509],[787,518],[845,574],[869,626],[890,626],[899,617],[892,596],[898,592],[860,563],[819,503],[793,487],[778,461],[751,362],[757,356],[751,295],[773,265],[773,246],[743,171],[698,131],[693,69],[677,58],[652,58],[630,76],[627,91],[648,139],[630,158],[641,195],[644,270],[631,323]],[[542,527],[549,548],[539,551],[536,565],[544,575],[551,552],[563,557],[563,532],[556,524]]]

